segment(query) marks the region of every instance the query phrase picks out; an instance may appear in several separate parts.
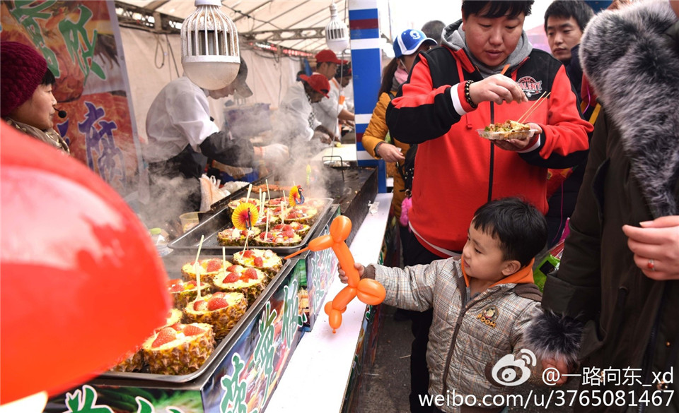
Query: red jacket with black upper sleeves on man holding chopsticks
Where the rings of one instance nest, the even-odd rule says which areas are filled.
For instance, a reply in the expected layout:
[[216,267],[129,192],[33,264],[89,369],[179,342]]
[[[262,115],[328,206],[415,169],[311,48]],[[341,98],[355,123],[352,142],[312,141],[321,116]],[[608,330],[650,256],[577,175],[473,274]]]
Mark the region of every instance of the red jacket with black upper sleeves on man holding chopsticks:
[[[518,196],[547,212],[547,168],[567,168],[584,160],[587,133],[576,96],[562,64],[533,49],[509,69],[529,96],[528,102],[465,101],[465,80],[482,80],[462,49],[436,47],[417,59],[410,79],[387,109],[390,133],[405,143],[419,143],[415,157],[410,225],[432,253],[462,251],[475,210],[489,200]],[[451,93],[451,90],[453,93]],[[477,129],[516,120],[545,91],[550,97],[525,123],[539,124],[540,136],[522,153],[495,148]]]

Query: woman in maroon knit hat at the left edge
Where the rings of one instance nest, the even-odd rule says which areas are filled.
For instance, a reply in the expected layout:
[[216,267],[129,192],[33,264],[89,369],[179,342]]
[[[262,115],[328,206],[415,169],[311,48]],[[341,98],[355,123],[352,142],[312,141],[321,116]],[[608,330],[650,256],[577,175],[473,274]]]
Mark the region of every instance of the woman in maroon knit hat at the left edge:
[[52,127],[56,79],[33,47],[0,42],[0,116],[33,138],[69,153],[69,145]]

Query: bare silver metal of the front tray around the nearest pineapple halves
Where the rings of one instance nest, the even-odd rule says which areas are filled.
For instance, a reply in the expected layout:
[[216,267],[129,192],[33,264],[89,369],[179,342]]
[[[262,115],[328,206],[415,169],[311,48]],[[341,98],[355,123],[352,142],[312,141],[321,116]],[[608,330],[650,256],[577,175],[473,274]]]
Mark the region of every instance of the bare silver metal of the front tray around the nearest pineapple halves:
[[[210,259],[210,258],[219,258],[221,259],[222,256],[221,254],[219,256],[216,255],[209,255],[209,254],[200,254],[200,259]],[[281,257],[282,258],[282,257]],[[192,255],[170,255],[163,257],[163,263],[166,266],[166,269],[168,269],[168,277],[171,279],[174,278],[181,278],[182,277],[182,265],[185,263],[194,261],[196,259],[196,256]],[[233,263],[233,255],[226,256],[226,261],[230,261]],[[252,323],[253,318],[257,316],[258,313],[262,311],[262,305],[260,303],[262,301],[267,301],[269,299],[269,296],[271,295],[270,292],[275,291],[274,287],[277,287],[282,280],[285,279],[286,275],[294,268],[294,264],[297,262],[296,259],[293,260],[284,260],[283,265],[277,275],[269,281],[269,284],[267,284],[267,287],[262,291],[262,294],[257,297],[255,302],[248,307],[248,311],[245,311],[245,314],[243,314],[243,317],[238,320],[238,323],[236,323],[236,326],[231,329],[231,331],[228,332],[226,337],[221,339],[219,343],[214,347],[214,350],[212,351],[212,354],[210,354],[210,357],[203,363],[202,366],[200,366],[199,369],[194,371],[193,373],[189,374],[182,374],[182,375],[171,375],[171,374],[153,374],[153,373],[144,373],[143,371],[106,371],[105,373],[100,374],[98,378],[103,378],[103,379],[120,379],[120,380],[127,380],[127,379],[134,379],[134,380],[144,380],[144,381],[159,381],[163,383],[187,383],[189,381],[194,380],[195,378],[202,376],[204,373],[212,374],[214,373],[214,370],[219,366],[219,362],[221,359],[224,359],[226,357],[226,354],[228,353],[228,350],[231,349],[233,343],[235,343],[238,340],[238,337],[243,334],[243,330],[248,328],[248,325]]]

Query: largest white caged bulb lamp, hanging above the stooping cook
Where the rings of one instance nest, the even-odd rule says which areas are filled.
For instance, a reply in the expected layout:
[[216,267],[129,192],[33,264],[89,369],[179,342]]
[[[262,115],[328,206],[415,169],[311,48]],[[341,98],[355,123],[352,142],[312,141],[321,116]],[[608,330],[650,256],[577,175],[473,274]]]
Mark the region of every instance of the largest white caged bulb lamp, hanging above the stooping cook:
[[201,88],[226,88],[240,66],[236,25],[220,10],[219,0],[196,0],[195,5],[182,23],[184,72]]

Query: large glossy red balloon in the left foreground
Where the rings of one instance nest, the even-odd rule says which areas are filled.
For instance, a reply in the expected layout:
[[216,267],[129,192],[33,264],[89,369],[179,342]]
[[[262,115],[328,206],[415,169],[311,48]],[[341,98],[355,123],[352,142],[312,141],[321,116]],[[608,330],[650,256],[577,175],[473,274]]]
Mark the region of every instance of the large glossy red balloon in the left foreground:
[[0,132],[4,404],[108,369],[171,298],[149,233],[108,184],[4,121]]

